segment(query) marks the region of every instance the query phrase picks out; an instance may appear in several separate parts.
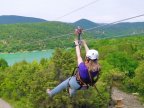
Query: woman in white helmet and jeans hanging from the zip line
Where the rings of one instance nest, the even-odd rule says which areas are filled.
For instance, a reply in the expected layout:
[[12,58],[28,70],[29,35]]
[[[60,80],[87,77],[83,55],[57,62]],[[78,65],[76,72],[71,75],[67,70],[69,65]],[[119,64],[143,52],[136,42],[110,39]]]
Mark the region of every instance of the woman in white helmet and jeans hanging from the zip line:
[[74,42],[78,64],[77,73],[60,83],[54,89],[47,89],[47,93],[50,97],[66,88],[69,88],[69,94],[70,96],[73,96],[77,90],[88,89],[89,86],[94,85],[96,82],[94,79],[100,72],[100,65],[98,64],[98,51],[94,49],[89,50],[86,42],[82,40],[82,44],[86,51],[86,57],[83,61],[78,40],[75,40]]

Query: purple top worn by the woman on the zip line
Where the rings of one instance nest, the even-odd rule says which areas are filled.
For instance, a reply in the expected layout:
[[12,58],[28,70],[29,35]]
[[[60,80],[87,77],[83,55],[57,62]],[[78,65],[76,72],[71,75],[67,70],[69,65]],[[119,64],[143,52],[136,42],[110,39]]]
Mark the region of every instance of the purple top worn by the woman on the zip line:
[[[88,68],[86,67],[86,65],[81,62],[78,66],[78,71],[79,71],[79,75],[81,77],[81,79],[85,82],[85,83],[90,83],[91,79],[89,77],[89,73],[88,73]],[[91,72],[91,76],[92,78],[95,77],[97,75],[97,71],[96,72]]]

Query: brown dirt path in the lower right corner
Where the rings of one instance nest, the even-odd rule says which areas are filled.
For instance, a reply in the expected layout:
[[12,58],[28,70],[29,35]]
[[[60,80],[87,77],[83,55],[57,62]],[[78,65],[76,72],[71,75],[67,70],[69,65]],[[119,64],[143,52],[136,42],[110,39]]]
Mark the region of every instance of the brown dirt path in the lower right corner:
[[[114,103],[115,103],[116,102],[115,100],[117,99],[122,99],[123,107],[120,107],[120,108],[144,108],[144,104],[142,105],[138,101],[138,98],[136,96],[132,94],[127,94],[113,87],[112,88],[112,100],[114,100]],[[110,108],[115,108],[115,107],[113,106]]]

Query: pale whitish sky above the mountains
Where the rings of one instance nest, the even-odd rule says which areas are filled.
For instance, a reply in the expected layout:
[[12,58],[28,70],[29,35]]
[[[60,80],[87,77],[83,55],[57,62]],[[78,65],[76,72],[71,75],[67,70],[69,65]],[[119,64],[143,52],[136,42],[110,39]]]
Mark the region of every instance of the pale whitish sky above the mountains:
[[[111,23],[140,14],[144,14],[144,0],[0,0],[0,15],[36,17],[48,21],[88,19],[96,23]],[[144,16],[129,20],[142,21]]]

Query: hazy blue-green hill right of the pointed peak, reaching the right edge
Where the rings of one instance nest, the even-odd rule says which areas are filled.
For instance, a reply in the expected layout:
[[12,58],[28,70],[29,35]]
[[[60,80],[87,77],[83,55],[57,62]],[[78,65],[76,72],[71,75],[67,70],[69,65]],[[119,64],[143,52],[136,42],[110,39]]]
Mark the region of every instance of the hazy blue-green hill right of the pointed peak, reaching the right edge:
[[118,23],[92,30],[98,38],[128,36],[144,33],[144,22]]

